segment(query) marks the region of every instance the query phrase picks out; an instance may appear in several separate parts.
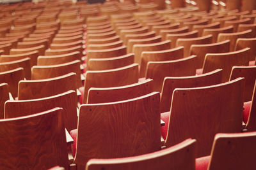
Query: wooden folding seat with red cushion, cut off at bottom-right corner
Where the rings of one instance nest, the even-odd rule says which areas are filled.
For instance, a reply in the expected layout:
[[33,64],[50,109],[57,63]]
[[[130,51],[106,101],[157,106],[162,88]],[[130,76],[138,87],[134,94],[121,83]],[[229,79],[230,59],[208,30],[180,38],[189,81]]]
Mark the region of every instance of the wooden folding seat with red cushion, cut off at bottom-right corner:
[[211,155],[196,159],[196,170],[254,169],[256,133],[216,134]]

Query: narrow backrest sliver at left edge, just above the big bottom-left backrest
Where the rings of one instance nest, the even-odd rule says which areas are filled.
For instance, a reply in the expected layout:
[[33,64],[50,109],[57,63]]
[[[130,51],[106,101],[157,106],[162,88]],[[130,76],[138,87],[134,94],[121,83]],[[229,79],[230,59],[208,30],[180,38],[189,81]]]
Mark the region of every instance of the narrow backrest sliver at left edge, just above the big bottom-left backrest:
[[4,118],[4,103],[9,99],[8,83],[0,83],[0,120]]

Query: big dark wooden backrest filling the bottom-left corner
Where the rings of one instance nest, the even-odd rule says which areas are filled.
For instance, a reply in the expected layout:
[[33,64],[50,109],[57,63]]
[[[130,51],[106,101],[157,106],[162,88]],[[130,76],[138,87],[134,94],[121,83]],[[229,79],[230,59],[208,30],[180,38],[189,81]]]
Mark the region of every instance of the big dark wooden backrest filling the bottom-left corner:
[[[68,168],[61,108],[0,120],[1,169]],[[35,138],[36,136],[36,138]],[[18,145],[19,144],[19,145]],[[10,147],[12,149],[10,149]]]

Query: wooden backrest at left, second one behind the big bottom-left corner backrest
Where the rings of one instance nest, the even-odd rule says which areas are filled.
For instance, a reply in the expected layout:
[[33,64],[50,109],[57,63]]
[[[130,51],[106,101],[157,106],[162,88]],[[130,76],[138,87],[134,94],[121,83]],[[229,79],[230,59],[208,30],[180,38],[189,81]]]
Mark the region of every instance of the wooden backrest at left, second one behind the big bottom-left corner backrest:
[[18,99],[39,99],[67,92],[76,91],[76,73],[68,73],[55,78],[19,81]]

